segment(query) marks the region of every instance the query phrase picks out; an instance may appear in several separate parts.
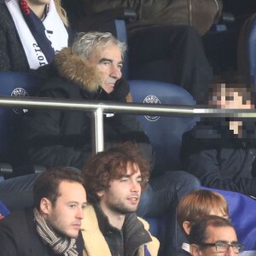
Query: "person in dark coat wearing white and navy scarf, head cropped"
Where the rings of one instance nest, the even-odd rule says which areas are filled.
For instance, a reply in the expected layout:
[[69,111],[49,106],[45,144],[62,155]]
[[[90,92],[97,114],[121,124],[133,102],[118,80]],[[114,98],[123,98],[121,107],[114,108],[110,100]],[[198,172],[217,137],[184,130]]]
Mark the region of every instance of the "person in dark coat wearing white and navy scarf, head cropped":
[[[37,27],[37,29],[35,29]],[[0,71],[28,71],[67,47],[67,16],[59,0],[0,0]]]

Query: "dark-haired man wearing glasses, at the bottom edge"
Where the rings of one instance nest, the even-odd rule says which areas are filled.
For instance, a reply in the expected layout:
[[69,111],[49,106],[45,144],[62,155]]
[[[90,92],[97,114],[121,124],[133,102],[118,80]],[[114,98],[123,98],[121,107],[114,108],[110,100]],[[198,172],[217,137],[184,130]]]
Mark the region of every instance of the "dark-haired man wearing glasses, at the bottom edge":
[[230,222],[210,215],[195,220],[189,234],[192,256],[235,256],[244,246],[237,241],[236,230]]

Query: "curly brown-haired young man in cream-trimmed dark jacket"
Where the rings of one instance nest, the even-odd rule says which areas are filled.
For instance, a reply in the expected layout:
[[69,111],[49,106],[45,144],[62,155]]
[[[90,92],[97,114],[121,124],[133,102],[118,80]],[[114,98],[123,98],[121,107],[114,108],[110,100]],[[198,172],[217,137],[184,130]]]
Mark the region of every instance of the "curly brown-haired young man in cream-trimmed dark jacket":
[[159,242],[135,213],[148,183],[148,169],[148,161],[132,143],[110,148],[88,161],[82,172],[91,203],[82,222],[85,255],[157,255]]

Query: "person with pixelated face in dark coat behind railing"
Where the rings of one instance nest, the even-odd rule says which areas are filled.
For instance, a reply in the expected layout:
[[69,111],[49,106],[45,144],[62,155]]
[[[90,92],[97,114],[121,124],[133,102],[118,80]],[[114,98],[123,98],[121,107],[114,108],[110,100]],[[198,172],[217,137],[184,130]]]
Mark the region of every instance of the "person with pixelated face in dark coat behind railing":
[[[221,109],[254,109],[253,94],[241,84],[217,84],[210,105]],[[202,119],[183,135],[185,170],[203,186],[256,196],[254,119]]]

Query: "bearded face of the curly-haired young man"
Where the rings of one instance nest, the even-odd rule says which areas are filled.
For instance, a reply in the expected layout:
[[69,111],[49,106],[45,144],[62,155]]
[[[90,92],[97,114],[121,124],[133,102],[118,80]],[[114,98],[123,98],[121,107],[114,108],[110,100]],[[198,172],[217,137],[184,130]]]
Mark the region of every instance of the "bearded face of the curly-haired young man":
[[108,189],[98,193],[103,212],[112,216],[136,212],[142,192],[141,182],[138,167],[128,164],[124,177],[112,180]]

